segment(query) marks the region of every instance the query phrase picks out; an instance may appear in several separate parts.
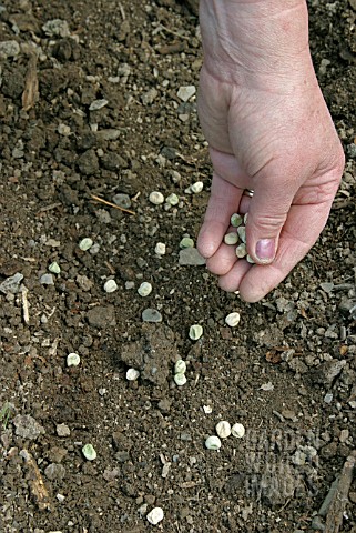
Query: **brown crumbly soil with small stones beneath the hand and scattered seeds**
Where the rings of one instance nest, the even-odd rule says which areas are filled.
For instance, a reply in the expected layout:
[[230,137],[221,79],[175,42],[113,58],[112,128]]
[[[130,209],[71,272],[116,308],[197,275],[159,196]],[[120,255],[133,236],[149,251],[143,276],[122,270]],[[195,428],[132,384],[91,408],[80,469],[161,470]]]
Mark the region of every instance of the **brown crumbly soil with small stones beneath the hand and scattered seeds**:
[[[257,304],[180,249],[211,177],[195,94],[179,95],[202,63],[194,4],[0,6],[1,532],[356,531],[356,3],[309,4],[347,163],[317,244]],[[206,450],[222,420],[245,435]],[[332,485],[340,509],[321,509]]]

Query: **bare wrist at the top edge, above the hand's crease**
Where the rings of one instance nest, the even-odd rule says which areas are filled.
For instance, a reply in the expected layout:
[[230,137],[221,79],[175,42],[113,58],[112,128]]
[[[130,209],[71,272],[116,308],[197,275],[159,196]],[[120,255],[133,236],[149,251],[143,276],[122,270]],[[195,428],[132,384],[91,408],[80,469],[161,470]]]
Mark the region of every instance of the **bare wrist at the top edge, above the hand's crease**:
[[314,73],[305,0],[201,0],[204,67],[222,81]]

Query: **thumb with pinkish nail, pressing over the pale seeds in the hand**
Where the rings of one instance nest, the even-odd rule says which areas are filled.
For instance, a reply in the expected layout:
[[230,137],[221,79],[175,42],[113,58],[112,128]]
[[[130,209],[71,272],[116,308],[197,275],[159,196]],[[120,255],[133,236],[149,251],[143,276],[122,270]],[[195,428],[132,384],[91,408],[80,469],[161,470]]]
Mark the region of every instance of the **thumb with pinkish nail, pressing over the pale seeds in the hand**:
[[250,202],[246,222],[247,250],[255,263],[272,263],[295,191],[278,180],[260,182]]

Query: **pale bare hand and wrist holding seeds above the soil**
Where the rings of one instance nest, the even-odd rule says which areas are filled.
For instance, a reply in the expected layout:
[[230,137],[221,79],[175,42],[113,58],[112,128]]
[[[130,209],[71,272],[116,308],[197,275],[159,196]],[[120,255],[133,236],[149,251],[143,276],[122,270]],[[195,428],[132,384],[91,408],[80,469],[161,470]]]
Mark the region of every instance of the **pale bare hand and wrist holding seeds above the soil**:
[[[305,0],[201,0],[200,22],[213,181],[197,247],[222,289],[257,302],[316,242],[344,153],[315,77]],[[223,243],[237,211],[248,211],[254,265]]]

